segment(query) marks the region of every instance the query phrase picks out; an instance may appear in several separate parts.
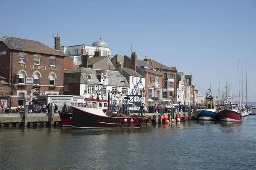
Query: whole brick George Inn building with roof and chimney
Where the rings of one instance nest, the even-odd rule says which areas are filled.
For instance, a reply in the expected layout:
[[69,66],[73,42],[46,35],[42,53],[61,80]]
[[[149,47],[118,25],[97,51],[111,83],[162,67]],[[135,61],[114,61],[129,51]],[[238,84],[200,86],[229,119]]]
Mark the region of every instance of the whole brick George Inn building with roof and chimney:
[[0,96],[8,96],[8,107],[26,105],[37,95],[58,95],[63,91],[65,55],[58,51],[58,34],[55,45],[53,49],[36,40],[0,38],[0,76],[5,78],[0,88],[9,93]]

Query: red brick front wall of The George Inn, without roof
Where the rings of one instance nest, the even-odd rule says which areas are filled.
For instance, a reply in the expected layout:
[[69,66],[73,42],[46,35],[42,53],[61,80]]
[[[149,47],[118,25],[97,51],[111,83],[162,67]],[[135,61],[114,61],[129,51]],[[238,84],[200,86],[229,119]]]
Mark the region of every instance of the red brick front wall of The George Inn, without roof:
[[[21,95],[24,94],[23,102],[20,97],[20,103],[26,105],[26,99],[29,99],[31,102],[35,95],[57,95],[63,91],[64,57],[23,51],[12,51],[9,50],[3,42],[0,42],[0,54],[2,51],[6,51],[6,54],[0,55],[0,76],[6,77],[6,81],[9,83],[9,94],[5,94],[9,96],[7,104],[8,107],[10,106],[10,102],[12,107],[16,107],[18,105],[20,93]],[[20,62],[20,54],[26,54],[24,63]],[[40,64],[34,63],[35,55],[40,57]],[[55,66],[50,66],[50,58],[55,58]],[[25,83],[16,82],[16,76],[21,72],[26,74],[24,79]],[[35,73],[38,73],[40,76],[39,85],[34,85],[33,82],[29,83],[26,81],[26,78],[33,78]],[[53,87],[49,85],[49,77],[51,74],[55,77]],[[6,87],[6,85],[0,83],[0,88],[3,87]],[[3,94],[0,93],[0,98],[2,95]]]

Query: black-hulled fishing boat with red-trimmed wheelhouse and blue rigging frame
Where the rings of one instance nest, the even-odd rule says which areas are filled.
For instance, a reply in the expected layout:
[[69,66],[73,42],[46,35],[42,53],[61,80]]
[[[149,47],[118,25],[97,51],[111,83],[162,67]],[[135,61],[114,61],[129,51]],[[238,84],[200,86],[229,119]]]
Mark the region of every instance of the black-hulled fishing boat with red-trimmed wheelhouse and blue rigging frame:
[[[137,102],[142,96],[138,95],[140,80],[130,95],[126,95],[126,103],[122,114],[116,116],[108,116],[104,113],[101,106],[107,104],[105,102],[88,102],[86,108],[72,107],[72,127],[85,129],[99,128],[141,128],[151,126],[151,119],[143,116],[143,107],[140,108],[138,115],[129,115],[127,106],[128,102]],[[136,99],[135,99],[136,98]],[[135,99],[135,100],[134,100]],[[128,101],[129,100],[129,101]],[[131,101],[132,100],[132,101]],[[141,101],[140,101],[141,102]],[[142,106],[142,105],[141,105]],[[126,112],[126,113],[125,113]]]

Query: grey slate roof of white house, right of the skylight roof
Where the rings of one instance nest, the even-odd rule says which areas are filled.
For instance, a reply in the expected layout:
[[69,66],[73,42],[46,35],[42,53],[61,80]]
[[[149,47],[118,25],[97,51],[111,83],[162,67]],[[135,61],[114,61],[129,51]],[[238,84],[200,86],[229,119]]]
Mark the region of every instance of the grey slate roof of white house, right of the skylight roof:
[[[106,70],[106,72],[108,73],[108,85],[129,87],[127,79],[119,71]],[[125,81],[125,82],[121,83],[121,81]]]

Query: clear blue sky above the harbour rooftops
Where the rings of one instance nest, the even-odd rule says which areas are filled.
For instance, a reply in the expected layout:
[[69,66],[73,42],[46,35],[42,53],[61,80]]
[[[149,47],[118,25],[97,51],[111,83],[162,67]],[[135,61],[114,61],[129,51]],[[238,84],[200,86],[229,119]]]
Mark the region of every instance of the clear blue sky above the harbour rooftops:
[[256,0],[0,0],[0,6],[0,37],[50,47],[57,33],[61,46],[101,37],[112,55],[128,56],[132,45],[138,59],[192,74],[202,94],[211,87],[217,95],[219,83],[221,94],[228,81],[238,96],[240,82],[245,101],[247,65],[247,102],[256,102]]

